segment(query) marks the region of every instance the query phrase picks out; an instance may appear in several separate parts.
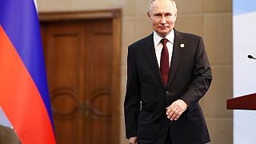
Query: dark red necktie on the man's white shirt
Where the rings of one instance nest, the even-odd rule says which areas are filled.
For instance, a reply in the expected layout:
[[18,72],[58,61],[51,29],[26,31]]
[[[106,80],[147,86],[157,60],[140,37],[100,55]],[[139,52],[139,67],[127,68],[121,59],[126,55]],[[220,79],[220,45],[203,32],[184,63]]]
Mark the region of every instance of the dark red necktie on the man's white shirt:
[[163,47],[162,47],[161,59],[160,59],[160,72],[161,72],[162,80],[165,86],[167,86],[168,76],[169,76],[169,53],[166,46],[167,41],[168,40],[166,38],[162,38],[161,40]]

